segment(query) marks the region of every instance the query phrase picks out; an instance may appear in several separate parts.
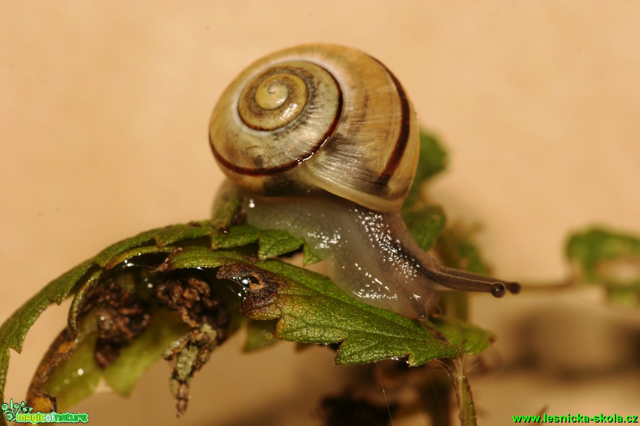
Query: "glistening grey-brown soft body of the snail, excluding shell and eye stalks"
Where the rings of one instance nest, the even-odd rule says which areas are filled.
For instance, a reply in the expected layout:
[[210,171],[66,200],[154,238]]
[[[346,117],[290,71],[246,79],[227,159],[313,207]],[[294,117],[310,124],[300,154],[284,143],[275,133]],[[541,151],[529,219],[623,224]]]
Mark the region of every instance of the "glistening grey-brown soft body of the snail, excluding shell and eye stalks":
[[438,264],[415,245],[397,213],[333,195],[244,200],[248,222],[304,238],[312,254],[328,264],[333,282],[369,305],[424,318],[445,289],[424,277]]

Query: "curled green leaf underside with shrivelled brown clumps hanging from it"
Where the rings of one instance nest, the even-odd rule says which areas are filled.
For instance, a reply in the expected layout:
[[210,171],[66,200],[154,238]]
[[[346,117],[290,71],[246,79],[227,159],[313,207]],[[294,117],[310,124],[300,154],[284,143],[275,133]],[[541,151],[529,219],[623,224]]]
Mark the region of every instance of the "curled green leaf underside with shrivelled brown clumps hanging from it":
[[77,332],[63,330],[40,363],[29,388],[32,406],[41,411],[68,407],[93,393],[100,377],[127,395],[162,356],[173,363],[170,388],[179,415],[184,413],[191,377],[229,335],[223,298],[192,273],[132,273],[125,268],[116,268],[82,293]]

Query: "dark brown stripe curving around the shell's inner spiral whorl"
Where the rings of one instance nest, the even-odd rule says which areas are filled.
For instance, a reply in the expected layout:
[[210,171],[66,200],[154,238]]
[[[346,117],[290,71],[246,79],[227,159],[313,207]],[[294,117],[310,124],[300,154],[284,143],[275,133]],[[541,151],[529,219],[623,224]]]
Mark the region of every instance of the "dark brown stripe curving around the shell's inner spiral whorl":
[[[324,67],[321,67],[321,68],[324,69]],[[333,77],[333,74],[328,71],[327,73],[331,75],[331,78],[335,82],[335,87],[337,87],[338,89],[338,107],[335,110],[335,116],[333,117],[333,121],[329,126],[329,128],[327,128],[326,132],[324,132],[323,137],[321,137],[321,139],[314,146],[312,146],[311,149],[309,149],[306,153],[304,153],[304,155],[302,155],[300,158],[296,158],[295,160],[292,160],[291,162],[276,165],[275,167],[242,167],[242,166],[233,164],[218,152],[218,149],[216,149],[216,147],[213,144],[213,141],[211,140],[211,132],[209,132],[209,146],[211,146],[211,151],[213,153],[213,156],[216,158],[216,160],[218,160],[220,164],[227,167],[228,170],[236,174],[244,174],[249,176],[269,176],[272,174],[291,170],[294,167],[297,167],[298,165],[302,164],[303,162],[311,158],[312,155],[314,155],[320,148],[324,146],[324,144],[326,144],[326,142],[329,141],[329,139],[332,138],[333,133],[335,133],[335,129],[337,128],[338,123],[340,122],[340,117],[342,116],[342,103],[343,103],[342,89],[340,88],[340,84],[338,83],[338,81],[335,79],[335,77]]]

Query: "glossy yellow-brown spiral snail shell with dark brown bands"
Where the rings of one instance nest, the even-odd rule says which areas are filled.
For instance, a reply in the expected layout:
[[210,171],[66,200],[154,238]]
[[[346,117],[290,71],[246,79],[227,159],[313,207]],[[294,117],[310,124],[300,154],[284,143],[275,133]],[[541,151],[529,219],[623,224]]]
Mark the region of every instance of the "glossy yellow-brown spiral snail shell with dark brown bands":
[[400,210],[419,152],[415,111],[396,77],[335,45],[250,65],[216,105],[209,141],[227,177],[252,192],[326,190],[385,212]]

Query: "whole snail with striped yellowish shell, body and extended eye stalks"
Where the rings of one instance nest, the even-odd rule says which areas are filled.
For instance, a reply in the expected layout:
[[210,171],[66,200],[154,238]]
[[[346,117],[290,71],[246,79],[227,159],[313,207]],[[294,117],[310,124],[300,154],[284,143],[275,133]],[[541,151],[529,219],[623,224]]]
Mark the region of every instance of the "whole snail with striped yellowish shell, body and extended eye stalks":
[[440,266],[412,240],[399,212],[419,156],[416,114],[364,52],[317,44],[259,59],[221,95],[209,142],[230,182],[219,197],[243,197],[250,225],[304,238],[365,303],[424,319],[442,290],[520,289]]

